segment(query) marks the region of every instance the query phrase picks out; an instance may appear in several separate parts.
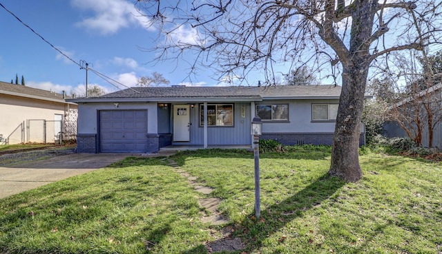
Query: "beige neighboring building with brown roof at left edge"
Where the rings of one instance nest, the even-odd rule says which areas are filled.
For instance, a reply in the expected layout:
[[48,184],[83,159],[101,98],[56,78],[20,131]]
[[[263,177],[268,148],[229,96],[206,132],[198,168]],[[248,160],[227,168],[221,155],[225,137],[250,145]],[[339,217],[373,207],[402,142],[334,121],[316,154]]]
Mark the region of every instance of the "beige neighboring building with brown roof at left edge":
[[0,144],[76,138],[77,104],[65,94],[0,82]]

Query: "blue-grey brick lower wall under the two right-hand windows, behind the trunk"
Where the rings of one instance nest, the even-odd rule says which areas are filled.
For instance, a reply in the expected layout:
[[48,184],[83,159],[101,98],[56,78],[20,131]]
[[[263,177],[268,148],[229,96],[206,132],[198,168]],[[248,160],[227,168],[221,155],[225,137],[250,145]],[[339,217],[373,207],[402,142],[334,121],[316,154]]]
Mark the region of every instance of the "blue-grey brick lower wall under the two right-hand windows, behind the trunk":
[[[273,139],[282,145],[332,145],[334,133],[263,133],[260,139]],[[365,133],[359,136],[359,145],[365,145]]]

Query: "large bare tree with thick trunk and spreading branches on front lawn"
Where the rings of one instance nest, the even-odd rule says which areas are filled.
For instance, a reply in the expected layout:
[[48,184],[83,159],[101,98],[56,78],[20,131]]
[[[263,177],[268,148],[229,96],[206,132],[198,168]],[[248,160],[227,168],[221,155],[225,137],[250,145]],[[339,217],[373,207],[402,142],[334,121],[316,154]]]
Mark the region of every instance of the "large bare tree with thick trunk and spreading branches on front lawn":
[[[358,145],[369,67],[390,52],[421,50],[442,34],[435,0],[138,0],[137,7],[160,25],[157,60],[190,53],[191,71],[213,67],[221,76],[247,78],[258,69],[269,83],[276,64],[302,62],[340,78],[329,173],[349,181],[363,176]],[[183,30],[188,36],[177,36]]]

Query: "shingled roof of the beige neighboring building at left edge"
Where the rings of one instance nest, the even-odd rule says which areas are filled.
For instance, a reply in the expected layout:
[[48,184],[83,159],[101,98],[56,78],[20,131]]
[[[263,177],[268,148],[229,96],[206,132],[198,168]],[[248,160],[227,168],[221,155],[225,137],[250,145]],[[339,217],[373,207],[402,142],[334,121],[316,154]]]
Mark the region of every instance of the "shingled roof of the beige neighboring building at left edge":
[[[19,96],[25,98],[34,98],[38,100],[49,100],[58,103],[66,103],[63,94],[27,87],[25,85],[15,85],[0,81],[0,94],[7,94],[11,96]],[[70,98],[65,96],[66,98]]]

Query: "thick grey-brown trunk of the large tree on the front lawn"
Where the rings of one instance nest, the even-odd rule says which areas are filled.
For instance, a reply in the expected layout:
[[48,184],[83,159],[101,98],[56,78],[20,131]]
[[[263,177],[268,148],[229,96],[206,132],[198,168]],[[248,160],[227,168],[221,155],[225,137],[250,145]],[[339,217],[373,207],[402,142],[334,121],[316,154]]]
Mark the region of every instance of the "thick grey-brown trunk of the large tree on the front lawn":
[[344,67],[343,70],[343,88],[336,117],[329,174],[349,182],[356,182],[363,176],[358,147],[368,68],[368,65],[360,62],[352,67]]

